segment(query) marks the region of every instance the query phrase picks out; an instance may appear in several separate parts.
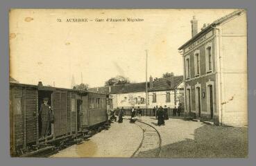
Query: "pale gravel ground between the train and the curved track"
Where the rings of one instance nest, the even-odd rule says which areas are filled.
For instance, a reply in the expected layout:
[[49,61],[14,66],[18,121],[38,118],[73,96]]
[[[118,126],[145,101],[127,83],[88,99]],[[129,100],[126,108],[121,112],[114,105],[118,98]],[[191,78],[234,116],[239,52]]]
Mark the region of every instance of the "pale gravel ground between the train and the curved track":
[[59,151],[51,158],[126,157],[130,158],[142,141],[142,129],[128,120],[113,122],[110,129],[96,133],[80,145]]

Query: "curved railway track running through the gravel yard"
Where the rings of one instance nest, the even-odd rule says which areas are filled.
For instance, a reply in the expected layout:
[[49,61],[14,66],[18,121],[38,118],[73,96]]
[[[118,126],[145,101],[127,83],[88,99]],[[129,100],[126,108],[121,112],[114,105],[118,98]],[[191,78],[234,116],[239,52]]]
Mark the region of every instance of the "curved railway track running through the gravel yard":
[[143,131],[142,142],[134,152],[132,158],[158,158],[161,151],[162,139],[160,133],[151,124],[136,121]]

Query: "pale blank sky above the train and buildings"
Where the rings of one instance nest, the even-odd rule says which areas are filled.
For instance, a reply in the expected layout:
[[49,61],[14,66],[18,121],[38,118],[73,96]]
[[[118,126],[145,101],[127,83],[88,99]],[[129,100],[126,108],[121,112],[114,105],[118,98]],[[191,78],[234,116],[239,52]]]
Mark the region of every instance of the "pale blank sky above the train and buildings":
[[[132,82],[162,73],[182,75],[178,48],[191,38],[193,15],[198,32],[203,23],[234,10],[12,10],[10,12],[10,75],[24,84],[71,88],[76,84],[103,86],[123,75]],[[67,19],[126,19],[138,22],[67,22]],[[58,22],[61,19],[62,22]]]

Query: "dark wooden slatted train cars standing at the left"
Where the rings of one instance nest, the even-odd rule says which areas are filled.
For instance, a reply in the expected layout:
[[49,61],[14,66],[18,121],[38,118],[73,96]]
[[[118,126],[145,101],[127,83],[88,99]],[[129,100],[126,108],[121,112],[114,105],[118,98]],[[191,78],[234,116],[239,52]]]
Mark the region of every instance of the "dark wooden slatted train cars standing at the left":
[[[40,106],[49,98],[54,121],[42,137]],[[107,95],[74,89],[10,83],[10,154],[20,156],[77,138],[107,120]],[[46,115],[42,115],[46,116]],[[53,145],[53,146],[46,146]]]

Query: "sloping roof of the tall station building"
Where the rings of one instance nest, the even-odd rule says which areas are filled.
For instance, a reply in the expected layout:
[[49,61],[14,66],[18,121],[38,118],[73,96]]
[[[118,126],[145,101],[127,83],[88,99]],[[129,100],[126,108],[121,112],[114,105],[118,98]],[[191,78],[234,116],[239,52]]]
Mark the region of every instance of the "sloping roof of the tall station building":
[[191,39],[189,39],[189,41],[187,41],[185,44],[183,44],[182,46],[180,46],[180,48],[178,48],[178,50],[181,50],[182,48],[184,48],[185,46],[187,46],[187,44],[189,44],[190,42],[194,41],[194,39],[196,39],[197,37],[199,37],[200,35],[202,35],[203,33],[205,33],[207,30],[209,30],[210,28],[223,23],[223,21],[230,19],[231,17],[233,17],[234,15],[240,15],[241,12],[244,12],[244,9],[239,9],[236,10],[234,12],[231,12],[228,15],[225,15],[224,17],[221,17],[220,19],[217,19],[215,21],[212,22],[212,24],[210,24],[209,26],[207,26],[206,28],[204,28],[203,30],[200,31],[200,33],[196,34],[194,37],[192,37]]

